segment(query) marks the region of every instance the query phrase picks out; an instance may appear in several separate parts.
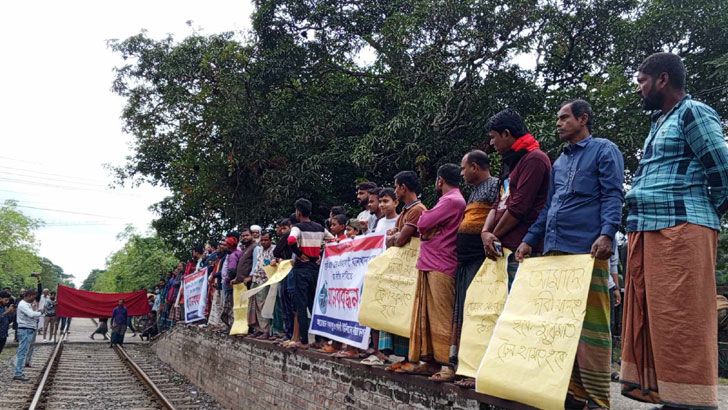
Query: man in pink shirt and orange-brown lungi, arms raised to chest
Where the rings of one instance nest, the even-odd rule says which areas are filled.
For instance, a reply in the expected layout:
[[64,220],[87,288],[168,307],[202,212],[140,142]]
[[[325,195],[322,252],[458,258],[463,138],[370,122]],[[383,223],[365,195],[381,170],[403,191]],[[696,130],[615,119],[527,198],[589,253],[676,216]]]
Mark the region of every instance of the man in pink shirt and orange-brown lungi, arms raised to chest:
[[[412,374],[434,374],[433,381],[451,381],[455,371],[449,362],[457,231],[465,212],[460,193],[460,167],[442,165],[435,186],[440,199],[434,208],[422,212],[417,229],[422,245],[417,258],[417,290],[412,312],[409,360],[401,370]],[[419,363],[418,363],[419,362]],[[438,365],[439,363],[439,365]],[[439,371],[438,371],[439,370]]]

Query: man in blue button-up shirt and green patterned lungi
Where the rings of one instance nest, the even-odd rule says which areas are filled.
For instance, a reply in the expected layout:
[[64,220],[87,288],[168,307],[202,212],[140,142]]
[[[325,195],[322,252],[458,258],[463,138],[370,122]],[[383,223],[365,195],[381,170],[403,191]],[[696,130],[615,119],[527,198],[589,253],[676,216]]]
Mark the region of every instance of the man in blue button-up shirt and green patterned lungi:
[[574,409],[609,408],[609,256],[622,220],[622,153],[591,136],[593,117],[584,100],[561,104],[556,128],[569,145],[554,162],[546,205],[516,252],[522,261],[543,242],[549,255],[590,253],[596,259],[566,401]]

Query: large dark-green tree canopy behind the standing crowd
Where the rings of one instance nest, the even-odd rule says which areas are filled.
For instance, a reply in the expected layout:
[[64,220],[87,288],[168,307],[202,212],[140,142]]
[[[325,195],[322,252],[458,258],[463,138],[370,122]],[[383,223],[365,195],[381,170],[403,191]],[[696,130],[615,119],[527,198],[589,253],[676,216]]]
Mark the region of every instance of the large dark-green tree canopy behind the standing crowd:
[[[114,90],[134,136],[120,182],[171,196],[154,205],[183,256],[209,235],[292,212],[296,198],[353,204],[355,183],[434,177],[488,146],[484,125],[516,108],[554,159],[558,105],[590,101],[594,134],[614,141],[627,180],[649,119],[634,95],[646,56],[685,60],[694,97],[728,115],[728,3],[697,0],[257,0],[249,33],[110,47],[126,61]],[[519,64],[520,63],[520,64]],[[493,158],[497,164],[497,158]]]

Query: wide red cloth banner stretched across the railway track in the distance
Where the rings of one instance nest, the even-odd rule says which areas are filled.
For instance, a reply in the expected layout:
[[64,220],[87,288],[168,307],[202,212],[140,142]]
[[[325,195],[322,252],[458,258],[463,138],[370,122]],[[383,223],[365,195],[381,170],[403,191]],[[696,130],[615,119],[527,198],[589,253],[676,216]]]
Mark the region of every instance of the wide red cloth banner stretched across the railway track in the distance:
[[111,312],[119,306],[119,299],[124,299],[124,306],[129,316],[141,316],[149,313],[147,291],[129,293],[98,293],[69,288],[58,285],[58,317],[111,317]]

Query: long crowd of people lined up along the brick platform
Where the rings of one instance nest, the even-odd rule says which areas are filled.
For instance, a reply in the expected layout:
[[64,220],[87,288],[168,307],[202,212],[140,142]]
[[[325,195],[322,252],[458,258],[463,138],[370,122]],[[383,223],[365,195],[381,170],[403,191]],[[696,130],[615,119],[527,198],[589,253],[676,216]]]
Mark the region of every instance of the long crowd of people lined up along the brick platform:
[[[497,176],[488,155],[472,150],[460,164],[439,167],[439,199],[431,209],[419,199],[422,186],[414,171],[358,184],[364,210],[356,216],[334,206],[319,223],[311,219],[312,203],[298,199],[295,213],[275,222],[275,234],[253,225],[194,246],[192,258],[154,286],[142,335],[153,337],[184,321],[183,278],[199,270],[209,278],[200,326],[228,332],[233,286],[261,286],[269,279],[266,266],[293,259],[290,274],[275,288],[272,318],[263,315],[271,288],[250,298],[246,337],[473,388],[474,380],[457,376],[456,369],[465,294],[486,258],[510,251],[510,287],[526,258],[591,254],[595,264],[565,407],[610,407],[610,323],[613,306],[622,303],[622,394],[663,409],[717,408],[714,269],[720,217],[728,209],[728,147],[719,116],[686,94],[685,78],[681,59],[669,53],[650,56],[639,69],[637,94],[655,114],[626,197],[623,155],[611,141],[592,135],[588,102],[569,100],[554,113],[566,144],[553,163],[519,113],[506,109],[485,129],[501,156]],[[471,188],[467,199],[463,182]],[[622,300],[615,247],[625,200]],[[372,329],[367,350],[319,336],[310,340],[322,248],[371,233],[385,234],[388,247],[421,241],[409,337]],[[115,310],[112,321],[123,342],[126,311]]]

